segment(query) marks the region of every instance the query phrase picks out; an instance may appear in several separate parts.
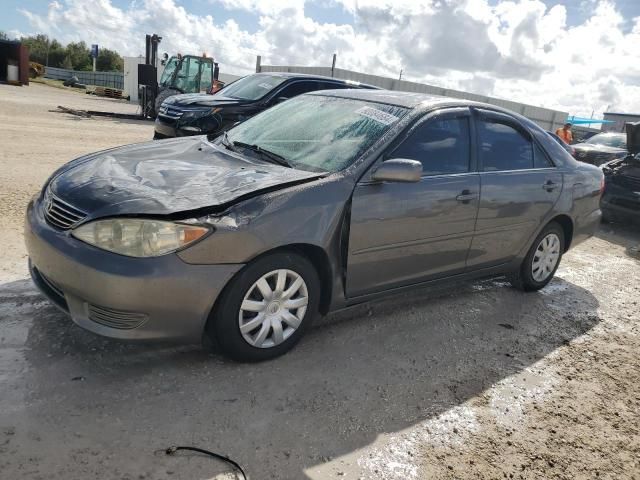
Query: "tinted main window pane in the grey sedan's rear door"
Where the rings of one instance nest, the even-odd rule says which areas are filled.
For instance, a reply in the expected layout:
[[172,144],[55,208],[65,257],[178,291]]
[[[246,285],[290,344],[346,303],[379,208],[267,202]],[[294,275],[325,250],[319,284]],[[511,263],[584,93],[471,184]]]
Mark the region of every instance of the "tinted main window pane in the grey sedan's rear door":
[[523,133],[504,123],[478,122],[480,162],[485,172],[533,168],[533,146]]

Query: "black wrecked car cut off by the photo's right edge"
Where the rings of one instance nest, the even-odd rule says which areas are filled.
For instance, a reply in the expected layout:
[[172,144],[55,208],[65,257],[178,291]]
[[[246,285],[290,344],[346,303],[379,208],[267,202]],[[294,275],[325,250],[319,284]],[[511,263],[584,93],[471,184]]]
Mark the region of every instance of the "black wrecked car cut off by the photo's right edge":
[[605,191],[601,208],[605,221],[640,222],[640,123],[627,124],[629,155],[602,166]]

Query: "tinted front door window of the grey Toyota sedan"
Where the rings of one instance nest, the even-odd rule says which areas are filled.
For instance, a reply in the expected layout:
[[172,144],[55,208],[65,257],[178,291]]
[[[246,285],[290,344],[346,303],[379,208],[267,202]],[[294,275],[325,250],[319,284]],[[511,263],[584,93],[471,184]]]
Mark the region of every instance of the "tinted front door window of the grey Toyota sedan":
[[416,127],[392,154],[422,162],[424,175],[469,171],[469,119],[429,120]]

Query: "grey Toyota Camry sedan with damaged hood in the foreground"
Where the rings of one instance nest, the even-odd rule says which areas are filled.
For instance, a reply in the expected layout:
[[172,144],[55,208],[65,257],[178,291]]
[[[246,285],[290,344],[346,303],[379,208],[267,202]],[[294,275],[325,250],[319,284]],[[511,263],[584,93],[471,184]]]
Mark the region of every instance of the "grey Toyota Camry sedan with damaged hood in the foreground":
[[29,204],[39,288],[80,326],[263,360],[318,314],[507,275],[543,288],[600,222],[602,171],[526,118],[407,92],[301,95],[215,139],[60,168]]

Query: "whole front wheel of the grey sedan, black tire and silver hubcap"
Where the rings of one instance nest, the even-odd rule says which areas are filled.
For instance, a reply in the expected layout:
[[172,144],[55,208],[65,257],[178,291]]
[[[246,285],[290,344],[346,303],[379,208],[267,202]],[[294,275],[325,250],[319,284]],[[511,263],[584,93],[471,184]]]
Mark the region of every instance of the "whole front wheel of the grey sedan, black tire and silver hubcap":
[[269,360],[298,343],[317,315],[319,302],[320,279],[312,263],[296,253],[274,253],[251,262],[227,284],[206,335],[216,350],[233,360]]

